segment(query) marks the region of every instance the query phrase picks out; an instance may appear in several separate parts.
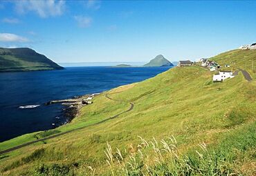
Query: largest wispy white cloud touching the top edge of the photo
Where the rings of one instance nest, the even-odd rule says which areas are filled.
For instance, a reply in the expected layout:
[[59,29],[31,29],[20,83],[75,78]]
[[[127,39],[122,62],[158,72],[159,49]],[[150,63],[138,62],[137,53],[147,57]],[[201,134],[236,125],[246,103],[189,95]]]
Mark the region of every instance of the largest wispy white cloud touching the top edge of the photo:
[[39,17],[46,18],[50,16],[60,16],[65,10],[65,1],[45,0],[21,0],[15,1],[15,10],[19,14],[24,14],[28,11],[35,12]]

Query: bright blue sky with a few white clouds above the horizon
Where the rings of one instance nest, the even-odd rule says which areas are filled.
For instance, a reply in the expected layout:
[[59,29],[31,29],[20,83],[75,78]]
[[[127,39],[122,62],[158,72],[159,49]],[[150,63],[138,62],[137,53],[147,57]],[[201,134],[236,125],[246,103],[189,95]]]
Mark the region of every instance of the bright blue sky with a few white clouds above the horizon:
[[57,63],[211,57],[256,42],[256,1],[1,1],[0,47]]

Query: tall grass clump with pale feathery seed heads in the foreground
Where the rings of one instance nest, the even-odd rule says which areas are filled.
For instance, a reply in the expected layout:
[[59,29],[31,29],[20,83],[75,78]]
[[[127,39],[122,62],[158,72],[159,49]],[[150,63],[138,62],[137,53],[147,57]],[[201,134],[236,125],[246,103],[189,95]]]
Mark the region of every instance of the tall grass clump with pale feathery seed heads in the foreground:
[[107,143],[109,175],[239,175],[226,155],[208,150],[204,143],[194,153],[181,155],[173,136],[160,141],[140,139],[138,146],[124,153],[118,148],[113,151]]

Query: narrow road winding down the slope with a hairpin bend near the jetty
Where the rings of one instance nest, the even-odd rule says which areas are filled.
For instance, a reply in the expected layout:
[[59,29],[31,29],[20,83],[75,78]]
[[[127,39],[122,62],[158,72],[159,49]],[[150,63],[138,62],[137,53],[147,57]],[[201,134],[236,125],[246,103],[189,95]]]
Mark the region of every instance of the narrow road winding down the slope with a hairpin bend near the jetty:
[[[122,100],[112,99],[112,98],[110,98],[107,94],[104,94],[104,95],[105,95],[105,97],[106,97],[107,99],[111,99],[112,101],[120,101],[120,102],[127,103],[127,102],[122,101]],[[97,123],[95,123],[95,124],[91,124],[91,125],[89,125],[89,126],[95,126],[95,125],[98,125],[98,124],[102,124],[102,123],[104,123],[105,121],[109,121],[109,120],[111,120],[111,119],[115,119],[116,117],[118,117],[118,116],[120,116],[120,115],[122,115],[122,114],[124,114],[124,113],[127,113],[127,112],[133,110],[133,109],[134,109],[134,103],[129,102],[129,104],[130,104],[130,107],[129,107],[128,110],[125,110],[125,111],[123,111],[122,113],[119,113],[119,114],[117,114],[117,115],[114,115],[114,116],[112,116],[112,117],[109,117],[108,119],[104,119],[104,120],[102,120],[102,121],[99,121],[99,122],[97,122]],[[71,133],[71,132],[73,132],[73,131],[75,131],[75,130],[81,130],[81,129],[87,128],[87,127],[89,127],[89,126],[82,126],[82,127],[80,127],[80,128],[75,128],[75,129],[73,129],[73,130],[65,131],[65,132],[63,132],[63,133],[58,133],[58,134],[56,134],[56,135],[51,135],[51,136],[48,136],[48,137],[44,137],[44,138],[42,138],[42,139],[37,139],[37,140],[35,140],[35,141],[28,141],[28,142],[26,142],[26,143],[24,143],[24,144],[21,144],[21,145],[19,145],[19,146],[15,146],[15,147],[12,147],[12,148],[8,148],[8,149],[6,149],[6,150],[2,150],[2,151],[0,151],[0,155],[3,155],[3,154],[5,154],[5,153],[12,152],[13,150],[17,150],[17,149],[23,148],[23,147],[25,147],[25,146],[29,146],[29,145],[31,145],[31,144],[35,144],[35,143],[37,143],[37,142],[39,142],[39,141],[44,141],[44,140],[47,140],[47,139],[53,139],[53,138],[55,138],[55,137],[59,137],[59,136],[61,136],[61,135],[65,135],[65,134],[67,134],[67,133]]]

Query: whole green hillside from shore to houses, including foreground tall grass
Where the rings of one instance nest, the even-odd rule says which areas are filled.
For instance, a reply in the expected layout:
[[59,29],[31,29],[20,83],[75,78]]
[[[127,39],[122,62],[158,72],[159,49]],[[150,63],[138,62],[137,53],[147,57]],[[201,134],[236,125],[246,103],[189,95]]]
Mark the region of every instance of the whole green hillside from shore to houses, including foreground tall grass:
[[[256,50],[232,57],[241,53]],[[246,61],[228,55],[214,60]],[[256,81],[212,74],[176,67],[104,92],[71,124],[2,142],[0,151],[80,128],[0,155],[0,175],[255,175]]]

